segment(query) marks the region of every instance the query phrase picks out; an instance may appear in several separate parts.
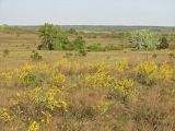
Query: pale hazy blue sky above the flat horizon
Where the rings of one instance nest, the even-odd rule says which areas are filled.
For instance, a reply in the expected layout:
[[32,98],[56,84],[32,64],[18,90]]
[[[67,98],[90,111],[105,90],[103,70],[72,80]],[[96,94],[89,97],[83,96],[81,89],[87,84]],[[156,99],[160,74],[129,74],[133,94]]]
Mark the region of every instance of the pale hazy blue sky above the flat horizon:
[[175,26],[175,0],[0,0],[0,24]]

